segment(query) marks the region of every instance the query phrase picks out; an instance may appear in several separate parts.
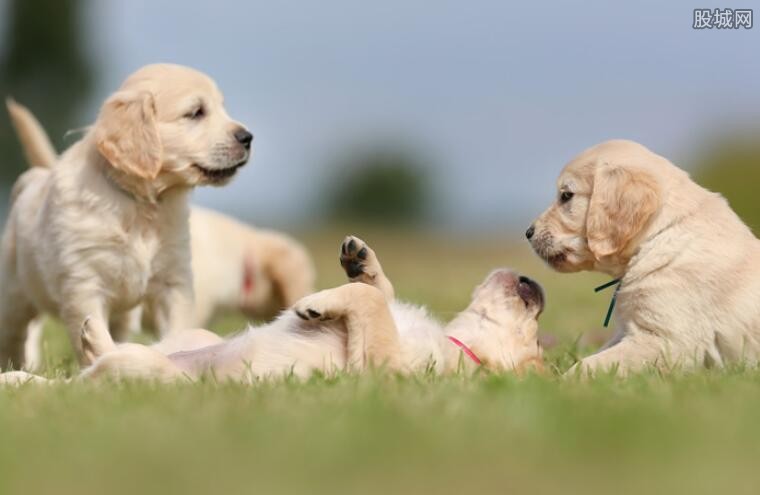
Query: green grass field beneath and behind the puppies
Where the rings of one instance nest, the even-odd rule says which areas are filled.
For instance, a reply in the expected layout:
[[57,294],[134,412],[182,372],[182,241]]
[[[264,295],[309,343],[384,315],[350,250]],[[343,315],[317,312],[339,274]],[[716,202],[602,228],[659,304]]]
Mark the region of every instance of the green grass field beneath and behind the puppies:
[[[342,234],[342,233],[341,233]],[[359,233],[360,235],[362,233]],[[558,275],[504,239],[370,232],[400,297],[448,318],[496,266],[548,294],[558,370],[599,329],[597,275]],[[339,234],[308,236],[320,286],[342,281]],[[214,323],[238,329],[239,316]],[[48,373],[70,357],[46,329]],[[382,374],[0,390],[4,493],[756,493],[760,373],[703,371],[588,383],[557,376]]]

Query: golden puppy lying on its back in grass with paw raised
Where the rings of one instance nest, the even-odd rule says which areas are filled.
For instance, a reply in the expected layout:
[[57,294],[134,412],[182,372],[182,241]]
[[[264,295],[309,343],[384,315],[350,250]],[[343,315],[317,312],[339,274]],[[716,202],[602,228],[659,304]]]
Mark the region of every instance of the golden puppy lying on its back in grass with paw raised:
[[[274,322],[227,340],[188,330],[150,347],[104,348],[108,334],[97,336],[102,329],[86,323],[83,347],[100,357],[80,376],[173,381],[212,374],[253,382],[373,366],[403,373],[481,365],[494,371],[541,369],[537,319],[544,295],[527,277],[495,270],[475,289],[470,305],[444,326],[424,308],[394,299],[377,256],[361,239],[347,237],[340,258],[351,283],[307,296]],[[2,383],[26,381],[41,379],[23,372],[0,375]]]

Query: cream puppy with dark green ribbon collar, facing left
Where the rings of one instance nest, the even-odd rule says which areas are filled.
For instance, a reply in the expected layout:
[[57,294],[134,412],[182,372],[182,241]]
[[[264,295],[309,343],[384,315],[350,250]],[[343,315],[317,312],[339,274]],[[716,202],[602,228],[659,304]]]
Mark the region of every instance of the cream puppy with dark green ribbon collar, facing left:
[[528,229],[561,272],[620,279],[617,330],[578,366],[723,366],[760,353],[760,241],[719,194],[631,141],[573,159]]

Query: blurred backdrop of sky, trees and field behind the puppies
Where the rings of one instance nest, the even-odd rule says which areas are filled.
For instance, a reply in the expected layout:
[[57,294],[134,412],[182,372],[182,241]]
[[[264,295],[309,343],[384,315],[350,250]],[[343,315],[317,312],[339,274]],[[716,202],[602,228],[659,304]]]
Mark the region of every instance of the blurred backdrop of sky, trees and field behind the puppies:
[[[140,66],[198,68],[256,153],[196,203],[295,234],[320,286],[342,280],[342,235],[363,236],[397,292],[444,317],[490,268],[516,266],[547,286],[545,328],[572,337],[601,323],[598,277],[551,272],[522,233],[584,148],[640,141],[760,231],[758,29],[694,30],[694,8],[0,0],[0,93],[64,149]],[[0,156],[7,191],[25,165],[4,117]]]

